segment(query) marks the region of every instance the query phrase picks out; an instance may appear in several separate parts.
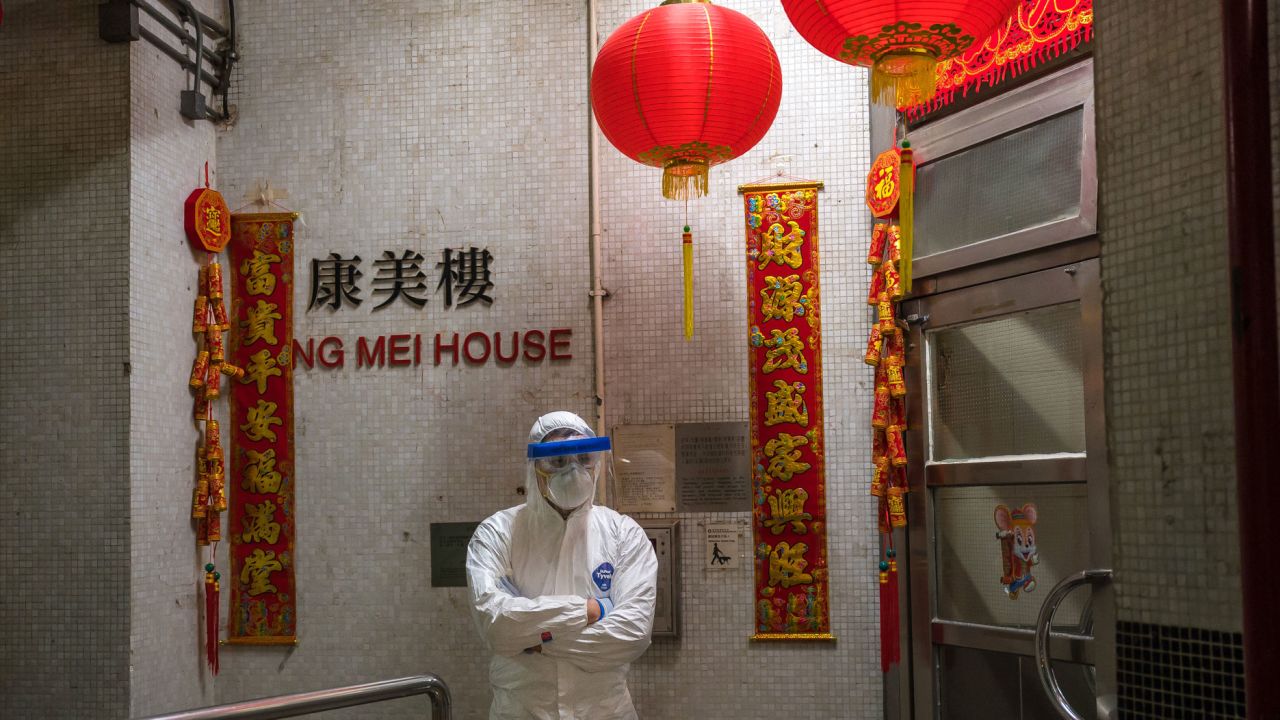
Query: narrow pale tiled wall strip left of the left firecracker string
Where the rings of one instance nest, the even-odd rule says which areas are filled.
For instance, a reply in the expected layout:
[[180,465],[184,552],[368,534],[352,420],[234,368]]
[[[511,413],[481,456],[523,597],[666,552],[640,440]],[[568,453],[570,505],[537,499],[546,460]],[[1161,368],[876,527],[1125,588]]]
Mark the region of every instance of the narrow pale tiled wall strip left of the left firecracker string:
[[[212,17],[221,5],[196,3]],[[197,551],[191,521],[198,428],[187,391],[205,255],[187,242],[183,202],[204,186],[206,160],[219,182],[212,126],[178,111],[189,73],[146,41],[129,53],[129,705],[142,716],[214,700],[200,623],[207,551]]]

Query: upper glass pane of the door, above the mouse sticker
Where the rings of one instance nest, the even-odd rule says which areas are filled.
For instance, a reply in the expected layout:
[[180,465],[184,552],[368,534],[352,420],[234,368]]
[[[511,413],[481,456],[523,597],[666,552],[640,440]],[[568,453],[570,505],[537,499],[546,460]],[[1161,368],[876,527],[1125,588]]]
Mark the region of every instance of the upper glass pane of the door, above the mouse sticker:
[[927,336],[932,460],[1084,452],[1080,305]]

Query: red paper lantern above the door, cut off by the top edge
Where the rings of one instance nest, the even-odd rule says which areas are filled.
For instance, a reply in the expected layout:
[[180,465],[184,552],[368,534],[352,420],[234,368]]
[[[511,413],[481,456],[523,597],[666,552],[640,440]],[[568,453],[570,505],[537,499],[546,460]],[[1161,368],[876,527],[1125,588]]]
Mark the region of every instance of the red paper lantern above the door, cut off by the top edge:
[[940,60],[1004,23],[1018,0],[782,0],[818,50],[872,68],[872,97],[908,108],[933,97]]

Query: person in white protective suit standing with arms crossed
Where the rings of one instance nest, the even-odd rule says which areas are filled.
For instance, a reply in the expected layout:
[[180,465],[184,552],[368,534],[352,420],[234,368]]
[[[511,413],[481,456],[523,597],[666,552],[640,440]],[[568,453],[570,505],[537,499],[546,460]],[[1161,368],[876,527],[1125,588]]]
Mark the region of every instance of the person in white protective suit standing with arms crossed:
[[490,720],[635,720],[627,669],[649,647],[658,559],[640,525],[591,502],[609,438],[572,413],[529,432],[525,503],[467,546],[467,585],[493,651]]

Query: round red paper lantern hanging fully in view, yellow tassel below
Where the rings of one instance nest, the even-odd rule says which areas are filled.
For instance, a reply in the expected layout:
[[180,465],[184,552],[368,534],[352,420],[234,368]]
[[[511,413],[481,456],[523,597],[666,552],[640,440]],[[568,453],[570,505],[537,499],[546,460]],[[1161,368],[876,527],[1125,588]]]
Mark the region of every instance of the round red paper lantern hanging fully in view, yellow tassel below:
[[663,196],[707,193],[708,169],[764,137],[782,100],[782,67],[746,15],[704,0],[667,0],[623,23],[591,69],[604,137],[663,169]]

